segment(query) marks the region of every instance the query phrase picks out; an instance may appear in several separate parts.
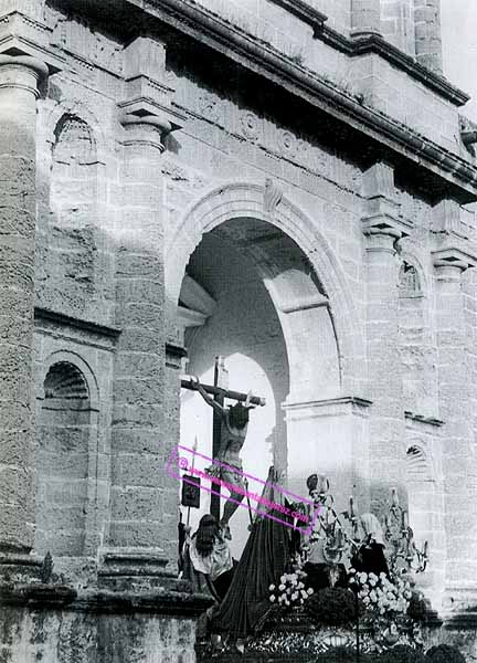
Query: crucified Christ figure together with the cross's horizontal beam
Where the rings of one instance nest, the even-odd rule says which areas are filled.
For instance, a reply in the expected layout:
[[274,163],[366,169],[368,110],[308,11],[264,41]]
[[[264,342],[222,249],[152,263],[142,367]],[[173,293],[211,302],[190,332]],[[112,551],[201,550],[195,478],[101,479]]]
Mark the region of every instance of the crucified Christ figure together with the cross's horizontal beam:
[[[229,520],[239,508],[239,504],[243,501],[246,492],[240,454],[247,433],[248,412],[255,406],[264,406],[265,400],[251,393],[245,396],[215,386],[202,386],[199,378],[192,376],[188,380],[182,380],[182,387],[199,391],[204,401],[214,410],[214,449],[212,455],[214,460],[225,463],[231,469],[229,470],[222,465],[211,465],[206,471],[211,476],[221,478],[227,486],[237,487],[237,491],[230,491],[230,498],[225,502],[223,515],[220,519],[220,526],[223,528],[225,536],[230,538]],[[215,398],[212,398],[211,393]],[[237,402],[234,406],[224,407],[224,398],[232,398]]]

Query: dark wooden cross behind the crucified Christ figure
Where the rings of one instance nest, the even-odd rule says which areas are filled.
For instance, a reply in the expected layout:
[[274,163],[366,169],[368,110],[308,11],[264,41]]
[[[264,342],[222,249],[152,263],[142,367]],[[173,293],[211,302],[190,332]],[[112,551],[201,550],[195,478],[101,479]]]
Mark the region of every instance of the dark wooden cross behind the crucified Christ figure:
[[[213,396],[214,401],[216,401],[220,406],[224,404],[226,398],[232,400],[244,402],[247,398],[246,393],[242,393],[241,391],[230,391],[229,390],[229,371],[225,368],[224,358],[215,357],[214,365],[214,383],[213,385],[202,385],[202,389]],[[192,391],[197,391],[197,386],[191,376],[182,376],[181,377],[181,388],[182,389],[191,389]],[[265,399],[258,396],[252,396],[250,398],[250,402],[253,406],[264,406]],[[222,418],[220,413],[214,409],[213,410],[213,436],[212,436],[212,457],[216,457],[220,450],[221,444],[221,431],[222,431]],[[211,514],[220,520],[220,484],[215,486],[216,495],[211,494]]]

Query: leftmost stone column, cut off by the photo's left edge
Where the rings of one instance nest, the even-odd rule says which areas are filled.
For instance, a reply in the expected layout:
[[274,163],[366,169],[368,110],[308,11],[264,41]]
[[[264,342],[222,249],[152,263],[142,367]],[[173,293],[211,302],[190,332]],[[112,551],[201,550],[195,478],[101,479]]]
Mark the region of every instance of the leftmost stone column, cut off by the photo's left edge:
[[0,55],[0,550],[33,546],[36,98],[47,67]]

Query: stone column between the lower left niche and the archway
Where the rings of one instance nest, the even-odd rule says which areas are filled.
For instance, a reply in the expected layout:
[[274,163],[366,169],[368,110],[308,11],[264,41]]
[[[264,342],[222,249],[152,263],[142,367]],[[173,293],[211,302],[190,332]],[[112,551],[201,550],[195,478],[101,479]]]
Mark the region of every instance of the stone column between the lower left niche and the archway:
[[[123,214],[115,230],[116,324],[112,494],[106,570],[161,575],[162,544],[177,538],[166,517],[165,280],[161,154],[170,130],[158,116],[124,115]],[[179,487],[174,485],[176,504]],[[174,561],[174,559],[173,559]],[[115,570],[116,569],[116,570]]]

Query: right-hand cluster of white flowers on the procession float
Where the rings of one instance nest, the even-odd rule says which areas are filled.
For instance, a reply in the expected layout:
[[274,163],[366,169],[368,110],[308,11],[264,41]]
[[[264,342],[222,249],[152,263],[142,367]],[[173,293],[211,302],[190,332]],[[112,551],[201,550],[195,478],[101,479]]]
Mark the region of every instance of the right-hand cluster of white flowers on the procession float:
[[358,598],[365,610],[377,617],[395,618],[405,615],[412,597],[411,585],[402,577],[390,578],[384,572],[356,572],[351,569],[350,583],[358,591]]

